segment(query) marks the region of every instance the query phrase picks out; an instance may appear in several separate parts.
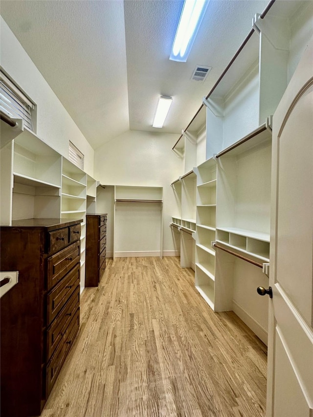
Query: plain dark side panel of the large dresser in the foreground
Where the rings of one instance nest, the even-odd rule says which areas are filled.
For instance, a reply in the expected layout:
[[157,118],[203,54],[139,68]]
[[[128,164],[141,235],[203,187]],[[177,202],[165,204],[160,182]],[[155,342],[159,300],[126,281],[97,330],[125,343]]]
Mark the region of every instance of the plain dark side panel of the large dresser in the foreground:
[[44,233],[3,227],[0,250],[1,270],[19,271],[18,284],[0,302],[1,416],[38,415],[42,399]]

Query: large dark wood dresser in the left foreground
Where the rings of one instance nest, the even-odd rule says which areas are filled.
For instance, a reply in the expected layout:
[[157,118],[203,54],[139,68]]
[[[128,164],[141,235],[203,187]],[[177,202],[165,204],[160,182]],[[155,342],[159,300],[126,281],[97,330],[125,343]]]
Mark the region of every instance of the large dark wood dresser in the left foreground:
[[81,221],[0,227],[0,269],[19,271],[0,300],[1,417],[40,415],[79,330]]

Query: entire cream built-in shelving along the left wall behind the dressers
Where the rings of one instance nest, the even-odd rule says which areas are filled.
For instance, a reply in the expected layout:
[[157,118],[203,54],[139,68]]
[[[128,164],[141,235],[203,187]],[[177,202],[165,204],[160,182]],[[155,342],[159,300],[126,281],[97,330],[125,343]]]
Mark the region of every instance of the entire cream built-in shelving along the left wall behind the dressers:
[[96,209],[96,180],[26,127],[1,148],[0,162],[1,225],[10,226],[20,219],[83,219],[80,245],[83,288],[85,216],[86,210],[94,213]]

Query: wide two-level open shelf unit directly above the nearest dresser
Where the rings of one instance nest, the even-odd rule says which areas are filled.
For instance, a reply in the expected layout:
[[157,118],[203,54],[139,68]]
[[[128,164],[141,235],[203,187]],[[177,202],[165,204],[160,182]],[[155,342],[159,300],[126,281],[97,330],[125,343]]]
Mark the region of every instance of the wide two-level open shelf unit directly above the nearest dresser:
[[[59,218],[61,155],[27,128],[8,146],[11,148],[13,188],[7,200],[7,223],[18,219]],[[4,175],[7,177],[8,172]],[[10,200],[12,208],[9,207]]]

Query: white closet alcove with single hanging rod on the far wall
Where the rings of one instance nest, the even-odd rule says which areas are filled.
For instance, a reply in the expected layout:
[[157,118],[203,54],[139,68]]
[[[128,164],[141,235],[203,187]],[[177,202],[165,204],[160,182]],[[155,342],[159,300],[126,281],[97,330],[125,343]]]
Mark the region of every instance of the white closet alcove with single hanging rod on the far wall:
[[162,187],[114,186],[113,258],[162,257],[162,198]]

